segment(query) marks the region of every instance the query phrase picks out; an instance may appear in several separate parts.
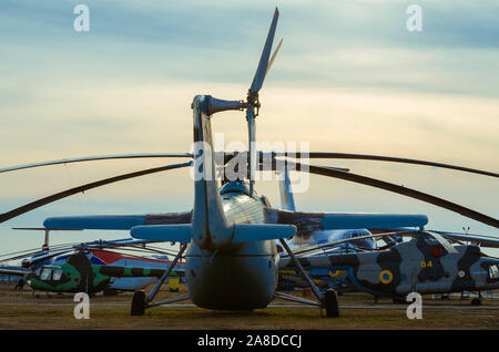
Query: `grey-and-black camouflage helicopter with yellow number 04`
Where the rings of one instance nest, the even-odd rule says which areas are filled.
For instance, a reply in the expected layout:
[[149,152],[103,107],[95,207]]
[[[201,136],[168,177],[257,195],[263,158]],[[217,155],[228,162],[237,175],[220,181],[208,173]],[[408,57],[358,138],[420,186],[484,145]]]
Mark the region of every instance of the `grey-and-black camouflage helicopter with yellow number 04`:
[[[397,231],[398,236],[413,237],[390,246],[384,250],[364,252],[325,253],[325,247],[335,247],[350,241],[345,239],[335,244],[302,249],[297,256],[299,263],[307,271],[326,270],[347,272],[353,286],[361,291],[378,297],[393,298],[395,302],[404,302],[409,292],[448,293],[479,291],[471,304],[481,303],[480,291],[499,288],[499,258],[481,252],[475,245],[450,245],[440,235],[431,231]],[[386,236],[371,235],[366,238]],[[454,238],[452,235],[449,236]],[[476,242],[480,239],[473,238]],[[499,240],[488,240],[493,247]],[[487,244],[486,244],[487,245]],[[313,253],[315,251],[315,253]],[[279,267],[287,275],[296,272],[295,263],[289,258],[281,258]],[[312,275],[314,277],[314,275]]]

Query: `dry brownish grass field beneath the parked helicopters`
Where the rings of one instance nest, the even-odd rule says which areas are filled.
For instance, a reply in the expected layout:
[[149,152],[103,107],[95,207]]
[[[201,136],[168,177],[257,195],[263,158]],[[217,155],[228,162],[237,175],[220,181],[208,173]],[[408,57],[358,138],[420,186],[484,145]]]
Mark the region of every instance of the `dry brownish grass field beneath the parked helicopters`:
[[[180,291],[172,293],[164,288],[157,298],[183,294],[185,286],[181,284]],[[179,304],[186,307],[156,307],[143,317],[131,317],[131,301],[130,292],[114,297],[99,293],[90,300],[90,319],[78,320],[73,315],[77,304],[73,294],[35,292],[33,296],[30,289],[19,292],[2,284],[0,329],[499,329],[498,299],[485,300],[477,309],[471,307],[470,299],[461,300],[458,296],[449,300],[425,296],[420,320],[409,320],[405,304],[394,304],[388,299],[374,304],[373,298],[363,292],[340,296],[340,317],[336,319],[320,318],[317,308],[297,308],[282,300],[253,312],[211,311],[183,301]]]

